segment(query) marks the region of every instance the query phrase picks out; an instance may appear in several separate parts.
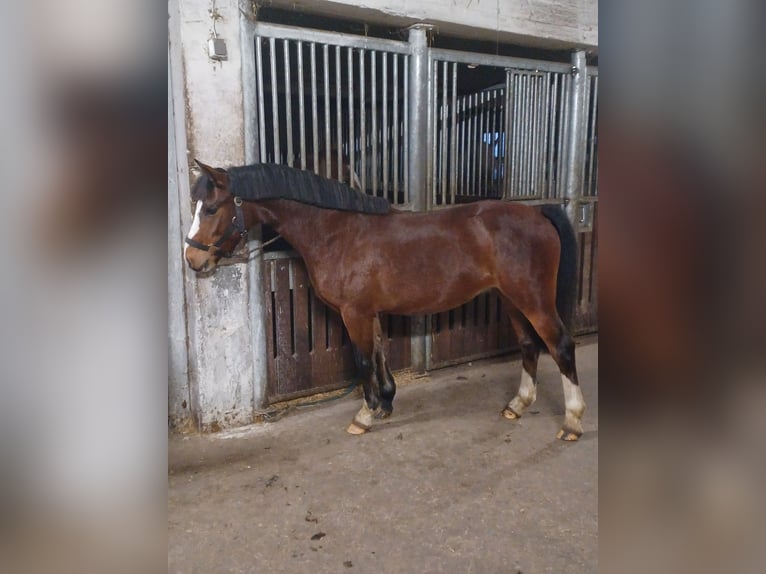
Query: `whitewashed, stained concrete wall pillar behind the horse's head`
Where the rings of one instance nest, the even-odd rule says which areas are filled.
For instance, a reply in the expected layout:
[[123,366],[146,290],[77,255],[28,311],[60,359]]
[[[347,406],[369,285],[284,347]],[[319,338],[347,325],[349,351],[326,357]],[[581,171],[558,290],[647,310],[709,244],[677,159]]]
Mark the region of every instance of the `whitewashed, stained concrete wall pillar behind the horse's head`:
[[[245,163],[239,3],[216,2],[220,14],[216,31],[226,40],[229,53],[224,62],[208,58],[207,41],[213,30],[211,5],[209,0],[170,2],[171,68],[180,72],[182,82],[182,89],[174,90],[174,109],[182,118],[176,128],[181,124],[186,139],[186,149],[178,150],[183,175],[177,201],[184,233],[192,219],[188,199],[189,180],[194,177],[188,169],[192,160],[198,158],[214,166]],[[171,247],[179,249],[169,241]],[[182,257],[181,252],[176,255]],[[249,423],[254,387],[247,266],[222,267],[209,279],[197,279],[184,266],[183,275],[188,416],[202,430]],[[171,406],[177,402],[171,397]],[[176,415],[182,416],[178,411],[176,408]]]

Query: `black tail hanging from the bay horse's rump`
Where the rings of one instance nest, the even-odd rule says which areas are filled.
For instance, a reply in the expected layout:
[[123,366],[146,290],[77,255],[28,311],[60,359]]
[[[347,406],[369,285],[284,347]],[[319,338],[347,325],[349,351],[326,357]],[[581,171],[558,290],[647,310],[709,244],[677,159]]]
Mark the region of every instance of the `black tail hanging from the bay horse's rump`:
[[561,255],[556,278],[556,310],[564,326],[567,330],[571,330],[577,296],[577,237],[562,208],[557,205],[544,205],[541,211],[559,234]]

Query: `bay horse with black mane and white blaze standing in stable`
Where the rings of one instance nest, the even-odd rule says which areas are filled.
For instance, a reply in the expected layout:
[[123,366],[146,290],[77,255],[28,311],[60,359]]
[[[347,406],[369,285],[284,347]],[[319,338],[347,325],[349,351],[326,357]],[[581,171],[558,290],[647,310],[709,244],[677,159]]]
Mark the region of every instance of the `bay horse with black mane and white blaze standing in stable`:
[[380,313],[440,313],[496,289],[523,364],[518,392],[502,415],[517,419],[535,401],[537,361],[547,349],[564,387],[557,437],[582,435],[585,402],[565,325],[574,303],[577,244],[560,207],[481,201],[413,213],[283,165],[197,165],[202,175],[191,190],[189,266],[212,273],[259,223],[300,253],[316,295],[340,313],[356,347],[364,400],[349,433],[363,434],[393,412],[396,384],[383,353]]

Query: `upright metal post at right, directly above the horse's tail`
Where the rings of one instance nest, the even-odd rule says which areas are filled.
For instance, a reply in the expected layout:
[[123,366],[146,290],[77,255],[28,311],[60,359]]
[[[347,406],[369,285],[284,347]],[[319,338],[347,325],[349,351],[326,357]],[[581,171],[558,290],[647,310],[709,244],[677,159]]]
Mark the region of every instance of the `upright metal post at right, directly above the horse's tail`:
[[[569,220],[578,230],[580,220],[580,199],[582,198],[582,180],[585,145],[587,143],[585,105],[588,77],[585,68],[585,51],[572,53],[572,82],[569,99],[569,121],[567,122],[566,155],[566,211]],[[579,240],[579,236],[578,236]]]

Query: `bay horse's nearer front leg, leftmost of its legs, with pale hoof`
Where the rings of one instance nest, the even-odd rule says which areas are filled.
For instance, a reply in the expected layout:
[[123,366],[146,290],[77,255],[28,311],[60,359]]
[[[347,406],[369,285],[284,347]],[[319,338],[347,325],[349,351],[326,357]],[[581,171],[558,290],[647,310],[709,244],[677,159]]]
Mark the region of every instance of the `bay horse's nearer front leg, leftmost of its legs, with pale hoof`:
[[356,346],[355,359],[362,378],[364,402],[346,429],[351,434],[364,434],[372,427],[375,411],[380,406],[380,391],[375,368],[375,314],[361,313],[354,308],[341,309],[351,342]]

